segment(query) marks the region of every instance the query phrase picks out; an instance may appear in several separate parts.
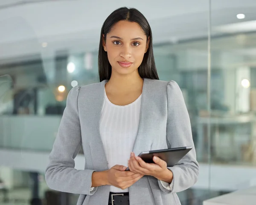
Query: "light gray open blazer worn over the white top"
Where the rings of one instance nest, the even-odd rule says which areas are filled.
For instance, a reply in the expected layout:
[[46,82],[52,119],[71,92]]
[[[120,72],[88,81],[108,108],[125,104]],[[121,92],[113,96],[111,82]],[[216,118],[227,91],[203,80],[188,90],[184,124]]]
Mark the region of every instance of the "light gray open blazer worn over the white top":
[[[93,171],[108,169],[99,121],[107,80],[74,87],[67,97],[58,135],[49,155],[45,177],[49,188],[80,194],[77,205],[107,205],[110,186],[90,191]],[[144,79],[140,122],[133,151],[193,146],[174,167],[172,191],[160,181],[144,176],[129,188],[130,205],[180,205],[177,192],[195,184],[198,162],[192,140],[189,114],[183,95],[174,81]],[[83,146],[84,170],[74,168],[74,158]]]

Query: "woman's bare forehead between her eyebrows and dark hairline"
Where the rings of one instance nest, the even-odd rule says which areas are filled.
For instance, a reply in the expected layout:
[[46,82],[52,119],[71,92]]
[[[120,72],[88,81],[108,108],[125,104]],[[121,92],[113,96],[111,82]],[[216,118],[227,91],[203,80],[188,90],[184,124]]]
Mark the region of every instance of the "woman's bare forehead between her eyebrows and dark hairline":
[[[144,31],[140,27],[140,25],[136,22],[129,22],[129,21],[119,21],[117,22],[109,32],[111,35],[115,35],[118,37],[145,37]],[[110,35],[109,35],[110,36]]]

